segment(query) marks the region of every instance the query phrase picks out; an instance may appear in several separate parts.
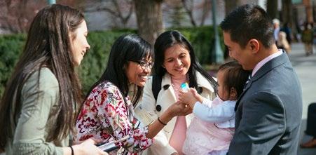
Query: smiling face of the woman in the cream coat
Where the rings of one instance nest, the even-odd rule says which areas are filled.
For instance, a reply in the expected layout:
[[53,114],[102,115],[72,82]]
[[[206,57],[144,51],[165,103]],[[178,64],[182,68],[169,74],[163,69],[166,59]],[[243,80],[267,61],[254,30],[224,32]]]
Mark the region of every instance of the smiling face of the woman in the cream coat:
[[165,50],[163,67],[172,76],[185,76],[190,65],[190,53],[184,46],[176,44]]

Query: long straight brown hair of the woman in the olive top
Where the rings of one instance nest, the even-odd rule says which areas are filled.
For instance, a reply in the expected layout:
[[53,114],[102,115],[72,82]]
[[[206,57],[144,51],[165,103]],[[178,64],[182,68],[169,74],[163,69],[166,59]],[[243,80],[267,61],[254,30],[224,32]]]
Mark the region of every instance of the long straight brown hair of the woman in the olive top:
[[[37,13],[29,29],[23,53],[1,99],[0,150],[4,150],[8,138],[13,137],[11,126],[18,123],[9,121],[8,116],[14,114],[16,118],[20,113],[22,87],[34,72],[39,72],[43,67],[49,68],[59,83],[57,109],[50,112],[50,116],[55,116],[56,123],[48,130],[46,140],[57,142],[73,130],[76,119],[74,103],[81,104],[82,94],[70,52],[69,33],[74,32],[83,21],[84,16],[80,11],[59,4],[47,6]],[[36,88],[39,88],[39,79]],[[13,94],[16,96],[13,97]],[[12,107],[15,107],[13,111]]]

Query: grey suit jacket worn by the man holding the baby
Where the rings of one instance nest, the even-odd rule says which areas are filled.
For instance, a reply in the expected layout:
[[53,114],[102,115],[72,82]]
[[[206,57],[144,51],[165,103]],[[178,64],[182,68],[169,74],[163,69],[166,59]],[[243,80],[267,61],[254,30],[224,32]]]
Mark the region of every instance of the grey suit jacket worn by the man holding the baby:
[[263,65],[236,104],[235,135],[228,154],[296,154],[301,92],[284,51]]

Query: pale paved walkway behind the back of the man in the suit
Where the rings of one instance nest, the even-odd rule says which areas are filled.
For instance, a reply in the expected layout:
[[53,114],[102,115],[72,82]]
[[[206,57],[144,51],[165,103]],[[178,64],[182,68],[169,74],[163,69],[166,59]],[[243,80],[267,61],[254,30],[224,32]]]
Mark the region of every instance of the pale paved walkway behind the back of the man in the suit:
[[[289,53],[289,59],[298,74],[301,81],[303,91],[303,119],[301,124],[300,143],[310,140],[310,136],[303,132],[306,128],[306,118],[308,105],[311,102],[316,102],[316,48],[314,54],[305,56],[304,46],[302,43],[293,43],[292,51]],[[298,155],[315,155],[315,149],[301,149],[298,147]]]

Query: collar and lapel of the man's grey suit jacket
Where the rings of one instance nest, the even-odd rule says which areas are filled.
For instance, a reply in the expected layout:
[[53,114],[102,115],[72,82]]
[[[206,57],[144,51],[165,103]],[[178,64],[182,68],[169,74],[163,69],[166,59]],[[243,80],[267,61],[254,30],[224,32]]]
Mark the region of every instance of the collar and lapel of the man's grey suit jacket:
[[284,50],[282,52],[283,52],[282,55],[277,56],[276,58],[273,58],[272,60],[266,62],[266,64],[263,65],[256,72],[256,74],[254,74],[254,76],[252,76],[252,79],[249,81],[249,83],[247,83],[247,85],[245,87],[245,90],[242,92],[242,94],[240,95],[240,97],[238,98],[238,100],[236,102],[235,111],[237,111],[237,108],[238,108],[240,100],[245,95],[247,90],[252,86],[252,83],[254,83],[255,81],[259,80],[262,76],[264,76],[265,74],[270,72],[275,67],[278,67],[278,66],[284,64],[285,62],[289,62],[289,58],[287,57],[287,53],[285,53]]

